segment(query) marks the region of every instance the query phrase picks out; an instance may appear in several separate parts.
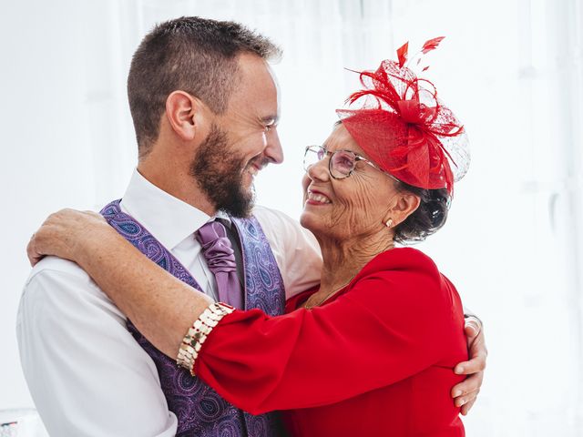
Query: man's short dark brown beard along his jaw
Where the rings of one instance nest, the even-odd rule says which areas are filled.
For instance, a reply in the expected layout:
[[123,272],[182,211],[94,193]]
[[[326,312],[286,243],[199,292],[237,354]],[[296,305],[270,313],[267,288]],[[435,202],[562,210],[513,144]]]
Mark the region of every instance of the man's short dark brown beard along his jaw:
[[243,188],[244,158],[230,147],[227,133],[214,123],[210,134],[190,163],[190,176],[215,208],[233,217],[248,217],[255,201],[254,189]]

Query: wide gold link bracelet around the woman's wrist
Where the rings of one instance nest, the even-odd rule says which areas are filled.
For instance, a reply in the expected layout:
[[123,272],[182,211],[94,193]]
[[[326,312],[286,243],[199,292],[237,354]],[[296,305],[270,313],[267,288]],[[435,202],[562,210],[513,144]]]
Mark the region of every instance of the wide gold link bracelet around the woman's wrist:
[[207,340],[210,331],[217,326],[220,320],[227,314],[230,314],[235,309],[230,305],[222,302],[215,302],[210,304],[202,314],[200,314],[199,319],[194,320],[192,327],[189,328],[188,332],[182,339],[182,344],[179,347],[178,358],[176,363],[190,371],[192,376],[194,374],[194,363],[199,357],[199,351],[202,348],[202,343]]

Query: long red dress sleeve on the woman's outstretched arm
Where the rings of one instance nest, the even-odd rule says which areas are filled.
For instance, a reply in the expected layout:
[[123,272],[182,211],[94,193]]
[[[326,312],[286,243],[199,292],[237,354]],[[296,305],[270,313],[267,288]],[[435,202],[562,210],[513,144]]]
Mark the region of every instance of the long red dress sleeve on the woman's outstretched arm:
[[440,361],[455,309],[435,267],[356,279],[313,310],[234,311],[212,330],[194,371],[227,401],[260,414],[343,401]]

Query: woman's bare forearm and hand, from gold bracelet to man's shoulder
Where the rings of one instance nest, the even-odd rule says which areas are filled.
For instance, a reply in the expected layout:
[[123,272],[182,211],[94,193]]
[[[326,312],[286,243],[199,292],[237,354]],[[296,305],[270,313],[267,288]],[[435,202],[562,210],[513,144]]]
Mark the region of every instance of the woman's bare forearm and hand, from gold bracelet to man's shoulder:
[[77,262],[157,348],[175,359],[184,334],[212,300],[174,278],[93,212],[64,209],[38,229],[28,248]]

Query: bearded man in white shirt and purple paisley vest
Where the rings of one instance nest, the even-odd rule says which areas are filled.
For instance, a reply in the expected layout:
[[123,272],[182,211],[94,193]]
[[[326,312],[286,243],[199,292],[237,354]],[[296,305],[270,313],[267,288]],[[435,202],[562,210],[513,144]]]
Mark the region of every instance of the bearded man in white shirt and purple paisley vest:
[[[198,230],[220,222],[240,282],[254,284],[240,300],[273,314],[282,310],[278,301],[317,283],[321,267],[316,243],[292,219],[265,208],[254,208],[248,221],[236,219],[251,212],[257,172],[283,158],[268,65],[279,55],[269,40],[231,22],[183,17],[158,25],[128,76],[138,169],[121,202],[104,209],[128,239],[142,236],[134,242],[150,259],[215,300],[217,281]],[[266,244],[250,252],[251,239]],[[275,269],[265,273],[262,263]],[[45,259],[33,270],[18,337],[26,380],[51,434],[278,432],[275,416],[240,412],[155,351],[87,274],[63,259]],[[456,387],[468,392],[457,401],[471,405],[481,378],[478,372]]]

